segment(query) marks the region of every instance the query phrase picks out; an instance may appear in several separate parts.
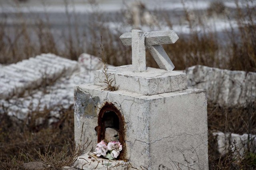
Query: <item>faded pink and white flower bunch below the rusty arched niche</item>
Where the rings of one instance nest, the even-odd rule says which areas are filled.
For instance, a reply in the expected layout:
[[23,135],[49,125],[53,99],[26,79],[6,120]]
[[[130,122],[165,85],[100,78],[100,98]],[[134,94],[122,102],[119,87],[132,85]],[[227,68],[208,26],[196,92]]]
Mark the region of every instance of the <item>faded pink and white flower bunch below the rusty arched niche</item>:
[[109,160],[117,158],[122,150],[122,145],[118,141],[109,142],[108,145],[102,140],[97,144],[96,151],[93,152],[96,156],[104,156]]

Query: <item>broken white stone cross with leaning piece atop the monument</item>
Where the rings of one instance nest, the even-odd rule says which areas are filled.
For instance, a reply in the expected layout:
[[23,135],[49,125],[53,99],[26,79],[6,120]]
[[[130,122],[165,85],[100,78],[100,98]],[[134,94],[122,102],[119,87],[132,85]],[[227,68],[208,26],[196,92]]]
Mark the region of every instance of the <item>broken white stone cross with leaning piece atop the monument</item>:
[[173,44],[178,38],[173,30],[143,32],[132,29],[132,32],[120,36],[124,45],[132,45],[132,65],[135,72],[146,71],[146,48],[160,69],[172,71],[174,65],[164,51],[162,44]]

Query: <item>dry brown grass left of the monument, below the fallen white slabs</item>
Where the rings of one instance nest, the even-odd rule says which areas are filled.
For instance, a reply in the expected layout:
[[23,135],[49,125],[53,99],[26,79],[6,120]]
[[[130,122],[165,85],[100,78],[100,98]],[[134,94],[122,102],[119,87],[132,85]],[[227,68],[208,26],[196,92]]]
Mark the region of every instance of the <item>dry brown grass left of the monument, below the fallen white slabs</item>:
[[[55,162],[62,154],[62,160],[67,160],[74,154],[74,115],[73,108],[60,111],[61,118],[49,125],[49,110],[34,112],[24,121],[15,120],[7,113],[0,115],[0,169],[10,162],[45,161],[54,156]],[[37,123],[41,119],[41,123]],[[50,145],[50,147],[49,147]],[[48,157],[42,157],[48,153]],[[44,154],[43,154],[44,155]],[[47,155],[47,154],[46,154]],[[18,163],[19,164],[19,163]]]

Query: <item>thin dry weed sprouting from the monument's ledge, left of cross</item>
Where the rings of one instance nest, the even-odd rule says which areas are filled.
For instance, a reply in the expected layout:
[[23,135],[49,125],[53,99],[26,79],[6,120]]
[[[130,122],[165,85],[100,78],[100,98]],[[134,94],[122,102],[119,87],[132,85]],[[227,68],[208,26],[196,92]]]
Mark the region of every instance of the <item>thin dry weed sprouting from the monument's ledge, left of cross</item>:
[[104,90],[109,90],[109,91],[116,91],[118,90],[119,86],[116,85],[112,85],[113,82],[115,81],[115,79],[110,78],[110,74],[107,73],[108,68],[107,68],[107,61],[106,61],[106,57],[107,55],[105,54],[105,49],[104,49],[104,45],[102,44],[102,37],[101,38],[101,43],[100,43],[100,49],[101,49],[101,53],[99,53],[101,55],[101,60],[104,64],[104,68],[102,70],[102,72],[105,75],[105,79],[104,79],[104,83],[107,85],[106,88],[104,88]]

